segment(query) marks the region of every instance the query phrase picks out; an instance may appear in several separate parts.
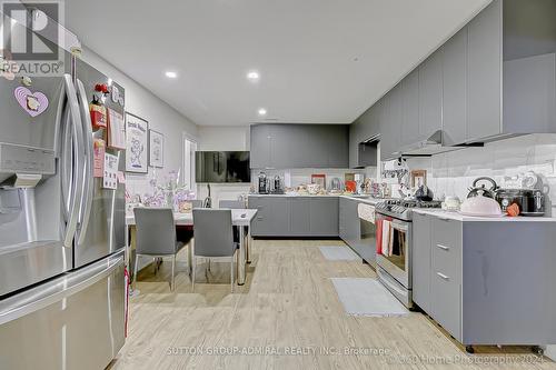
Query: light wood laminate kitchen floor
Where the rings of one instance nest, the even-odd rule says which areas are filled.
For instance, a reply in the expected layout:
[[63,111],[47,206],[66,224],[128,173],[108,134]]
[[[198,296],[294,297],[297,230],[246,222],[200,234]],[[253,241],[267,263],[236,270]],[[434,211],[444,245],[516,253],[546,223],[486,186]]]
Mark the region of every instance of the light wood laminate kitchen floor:
[[[524,348],[479,348],[469,356],[421,313],[347,316],[329,278],[376,274],[360,261],[328,261],[318,249],[340,243],[255,240],[247,283],[234,293],[227,263],[212,263],[207,274],[200,264],[195,293],[185,252],[173,292],[170,263],[157,274],[147,267],[140,293],[130,299],[126,346],[109,368],[556,369]],[[359,353],[346,354],[346,348]]]

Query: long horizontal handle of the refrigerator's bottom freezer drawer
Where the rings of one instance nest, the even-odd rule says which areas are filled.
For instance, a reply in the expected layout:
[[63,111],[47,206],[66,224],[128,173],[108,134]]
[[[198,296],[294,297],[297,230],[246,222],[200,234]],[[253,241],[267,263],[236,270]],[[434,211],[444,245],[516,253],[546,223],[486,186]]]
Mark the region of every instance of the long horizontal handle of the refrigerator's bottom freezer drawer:
[[122,264],[123,256],[116,254],[109,260],[88,266],[21,294],[8,298],[0,303],[0,326],[75,296],[110,277]]

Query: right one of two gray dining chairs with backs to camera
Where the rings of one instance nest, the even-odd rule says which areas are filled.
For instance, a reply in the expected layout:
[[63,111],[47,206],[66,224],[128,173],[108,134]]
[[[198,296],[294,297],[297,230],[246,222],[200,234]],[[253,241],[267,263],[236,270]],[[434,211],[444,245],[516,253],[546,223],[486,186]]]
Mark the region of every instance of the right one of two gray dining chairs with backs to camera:
[[195,246],[191,253],[192,274],[191,291],[195,291],[195,270],[197,258],[228,260],[230,262],[231,292],[234,292],[234,258],[237,246],[234,242],[231,210],[229,209],[193,209]]

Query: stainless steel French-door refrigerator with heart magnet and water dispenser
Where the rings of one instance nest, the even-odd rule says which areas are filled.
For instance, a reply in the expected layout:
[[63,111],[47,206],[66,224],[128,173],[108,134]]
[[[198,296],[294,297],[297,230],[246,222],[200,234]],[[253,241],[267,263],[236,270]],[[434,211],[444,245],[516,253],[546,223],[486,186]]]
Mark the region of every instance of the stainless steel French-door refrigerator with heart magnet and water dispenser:
[[[106,107],[123,114],[125,90],[70,54],[64,68],[30,84],[0,78],[2,369],[103,369],[125,342],[125,184],[93,177],[106,129],[89,112],[105,83],[121,97]],[[107,152],[123,171],[125,151]]]

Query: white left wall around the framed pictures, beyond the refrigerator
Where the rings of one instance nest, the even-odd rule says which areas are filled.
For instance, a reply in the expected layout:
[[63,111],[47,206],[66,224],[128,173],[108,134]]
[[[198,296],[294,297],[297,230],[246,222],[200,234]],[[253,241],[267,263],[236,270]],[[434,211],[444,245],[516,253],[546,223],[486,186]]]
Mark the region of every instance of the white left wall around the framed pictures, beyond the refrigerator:
[[92,50],[83,48],[82,59],[126,89],[126,111],[146,119],[150,129],[165,136],[165,167],[156,170],[149,168],[147,174],[126,174],[128,192],[130,194],[139,193],[142,197],[145,193],[151,192],[149,180],[153,176],[163,180],[169,171],[181,169],[182,134],[187,133],[197,138],[197,124]]

